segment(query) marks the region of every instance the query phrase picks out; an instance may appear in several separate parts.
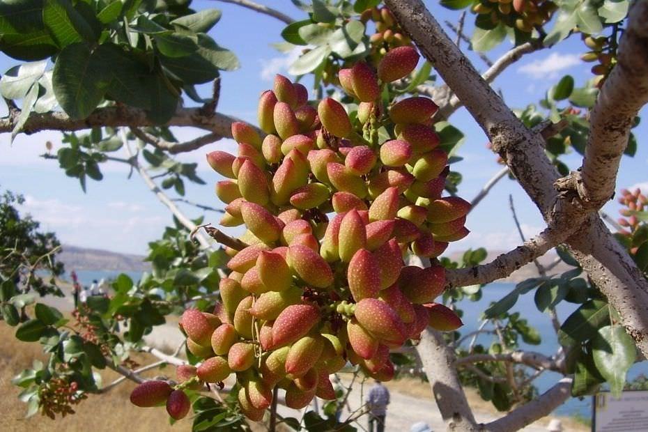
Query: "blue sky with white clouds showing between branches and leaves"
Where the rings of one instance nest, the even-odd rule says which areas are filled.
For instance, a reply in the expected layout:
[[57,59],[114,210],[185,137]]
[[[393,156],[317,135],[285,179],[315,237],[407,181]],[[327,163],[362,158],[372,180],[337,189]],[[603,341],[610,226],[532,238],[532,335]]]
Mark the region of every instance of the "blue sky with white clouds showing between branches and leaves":
[[[288,0],[261,2],[272,4],[295,19],[304,17],[302,11]],[[458,19],[458,13],[442,8],[437,1],[426,3],[440,22],[456,22]],[[218,1],[194,1],[193,7],[196,10],[222,10],[222,20],[210,34],[220,45],[236,52],[241,63],[239,70],[222,74],[218,110],[256,122],[256,101],[259,94],[272,85],[275,73],[286,74],[290,63],[286,55],[270,46],[270,43],[281,41],[279,33],[284,24],[252,10]],[[468,22],[472,20],[471,16],[468,15]],[[467,25],[467,31],[472,32],[472,25]],[[505,42],[488,56],[497,59],[510,47],[511,44]],[[509,106],[525,107],[542,98],[543,92],[562,75],[573,75],[577,86],[591,78],[591,64],[578,60],[579,54],[583,52],[585,45],[578,36],[572,36],[553,49],[526,56],[500,75],[493,86],[503,92]],[[477,56],[472,52],[469,56],[477,68],[485,69],[484,63]],[[0,54],[0,72],[15,64],[17,61]],[[208,94],[208,88],[203,88],[203,91]],[[6,107],[1,107],[2,115],[5,112]],[[648,110],[644,109],[642,114],[645,116]],[[463,173],[463,183],[459,190],[461,196],[472,199],[501,166],[495,162],[495,155],[486,148],[488,139],[465,110],[461,109],[454,114],[451,121],[466,135],[465,143],[458,153],[464,159],[453,169]],[[619,188],[642,185],[648,192],[647,121],[635,129],[639,141],[638,152],[634,158],[624,157],[617,181]],[[178,137],[187,139],[199,133],[197,130],[185,129],[178,132]],[[0,136],[0,187],[24,194],[27,201],[23,210],[40,220],[45,229],[56,231],[65,243],[116,252],[145,253],[147,243],[159,238],[164,226],[171,223],[171,215],[162,203],[157,201],[137,175],[129,180],[128,170],[114,162],[102,164],[104,180],[88,180],[87,193],[84,194],[77,179],[66,177],[56,161],[38,157],[45,152],[45,142],[48,140],[54,144],[54,151],[61,147],[61,134],[57,132],[21,135],[13,145],[10,145],[9,134]],[[180,156],[184,161],[199,162],[199,175],[208,183],[206,186],[187,185],[187,198],[218,206],[212,185],[219,178],[204,162],[204,153],[222,148],[233,151],[235,146],[231,141],[223,140],[192,154]],[[574,153],[565,157],[564,162],[576,169],[580,166],[580,156]],[[470,236],[455,243],[452,248],[461,250],[484,246],[491,250],[504,250],[518,245],[518,234],[508,207],[509,194],[514,196],[525,234],[530,236],[539,232],[544,225],[537,208],[514,181],[504,179],[470,213],[467,222],[472,231]],[[183,207],[183,210],[191,217],[201,215],[191,207]],[[608,203],[606,210],[616,217],[618,206]],[[208,213],[207,219],[216,223],[219,215]]]

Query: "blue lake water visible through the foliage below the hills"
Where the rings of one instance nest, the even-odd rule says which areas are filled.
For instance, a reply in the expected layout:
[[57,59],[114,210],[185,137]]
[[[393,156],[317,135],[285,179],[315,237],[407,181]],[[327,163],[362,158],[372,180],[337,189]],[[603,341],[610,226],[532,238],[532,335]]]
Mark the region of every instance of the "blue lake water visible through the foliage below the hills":
[[[121,272],[114,270],[78,270],[77,276],[79,277],[81,284],[89,286],[92,284],[94,279],[100,280],[103,278],[106,281],[109,281],[110,279],[116,278],[120,273]],[[141,276],[141,272],[124,273],[130,276],[130,278],[135,282],[137,282]],[[65,275],[65,278],[68,280],[70,279],[69,275]],[[469,300],[463,300],[460,302],[458,307],[463,309],[464,323],[461,333],[468,334],[469,332],[477,330],[481,324],[480,316],[484,309],[486,309],[491,302],[495,302],[509,293],[514,287],[515,284],[495,282],[483,288],[483,295],[479,302],[470,302]],[[541,344],[532,346],[521,343],[520,347],[527,350],[537,351],[545,355],[552,355],[558,348],[556,334],[548,315],[538,311],[533,300],[533,295],[534,291],[530,291],[525,295],[520,295],[518,302],[516,302],[515,306],[511,308],[511,311],[520,312],[520,316],[526,318],[528,323],[539,332]],[[565,318],[576,310],[577,307],[577,304],[561,302],[557,307],[557,314],[560,318],[560,322],[562,323]],[[490,335],[482,335],[477,339],[477,341],[485,346],[489,346],[492,339]],[[648,362],[635,364],[628,372],[628,380],[632,380],[640,374],[648,375]],[[539,392],[543,393],[552,387],[557,380],[560,380],[560,378],[562,378],[562,376],[560,376],[559,373],[546,371],[534,381],[534,384],[538,387]],[[564,405],[560,406],[555,413],[557,415],[578,414],[581,417],[590,417],[592,413],[592,398],[591,396],[587,396],[583,399],[571,398],[569,401],[564,403]]]

